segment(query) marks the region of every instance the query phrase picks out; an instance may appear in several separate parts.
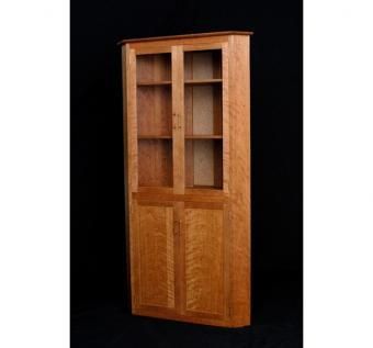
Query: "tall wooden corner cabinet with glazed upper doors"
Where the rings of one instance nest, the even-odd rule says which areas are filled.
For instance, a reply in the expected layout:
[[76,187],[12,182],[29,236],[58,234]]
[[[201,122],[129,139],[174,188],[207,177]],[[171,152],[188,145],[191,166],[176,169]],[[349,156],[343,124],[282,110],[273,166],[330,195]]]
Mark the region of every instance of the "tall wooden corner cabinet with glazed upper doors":
[[120,43],[133,314],[250,324],[250,34]]

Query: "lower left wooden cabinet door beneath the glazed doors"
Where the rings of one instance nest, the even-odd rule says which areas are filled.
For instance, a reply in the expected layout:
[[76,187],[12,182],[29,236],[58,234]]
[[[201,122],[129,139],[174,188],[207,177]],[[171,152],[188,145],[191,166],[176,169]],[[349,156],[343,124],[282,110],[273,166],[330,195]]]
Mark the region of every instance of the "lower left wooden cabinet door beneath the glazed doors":
[[132,265],[135,307],[173,312],[174,207],[168,202],[136,202]]

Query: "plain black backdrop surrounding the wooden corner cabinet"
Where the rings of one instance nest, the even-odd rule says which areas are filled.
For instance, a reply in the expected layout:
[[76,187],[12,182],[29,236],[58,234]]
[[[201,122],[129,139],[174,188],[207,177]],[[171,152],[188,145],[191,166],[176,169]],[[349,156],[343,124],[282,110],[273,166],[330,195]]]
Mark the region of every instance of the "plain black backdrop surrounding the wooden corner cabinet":
[[[71,1],[72,347],[302,346],[302,1]],[[252,305],[245,329],[126,308],[123,38],[253,31]]]

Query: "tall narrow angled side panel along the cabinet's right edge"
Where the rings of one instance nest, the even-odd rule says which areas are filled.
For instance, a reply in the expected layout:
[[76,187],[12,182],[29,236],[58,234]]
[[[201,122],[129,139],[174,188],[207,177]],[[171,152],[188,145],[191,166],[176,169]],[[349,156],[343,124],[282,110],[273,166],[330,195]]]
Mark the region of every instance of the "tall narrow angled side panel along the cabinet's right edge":
[[250,324],[250,90],[249,37],[229,37],[230,319]]

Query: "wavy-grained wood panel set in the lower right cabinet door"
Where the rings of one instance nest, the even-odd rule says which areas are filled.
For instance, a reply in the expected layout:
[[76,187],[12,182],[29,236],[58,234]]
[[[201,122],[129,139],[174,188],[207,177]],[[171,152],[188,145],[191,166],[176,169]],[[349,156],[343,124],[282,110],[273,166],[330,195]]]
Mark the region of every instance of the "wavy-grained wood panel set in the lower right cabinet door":
[[185,311],[224,315],[223,211],[185,207]]

